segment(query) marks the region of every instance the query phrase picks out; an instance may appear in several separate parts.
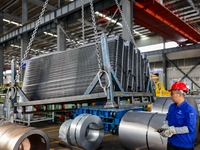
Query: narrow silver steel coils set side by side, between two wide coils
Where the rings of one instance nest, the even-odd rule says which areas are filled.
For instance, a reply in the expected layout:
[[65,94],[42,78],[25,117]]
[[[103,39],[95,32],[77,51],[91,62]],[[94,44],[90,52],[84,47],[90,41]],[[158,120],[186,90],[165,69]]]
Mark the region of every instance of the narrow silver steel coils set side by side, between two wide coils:
[[102,120],[95,115],[81,114],[65,121],[59,129],[59,138],[69,146],[96,149],[104,135]]

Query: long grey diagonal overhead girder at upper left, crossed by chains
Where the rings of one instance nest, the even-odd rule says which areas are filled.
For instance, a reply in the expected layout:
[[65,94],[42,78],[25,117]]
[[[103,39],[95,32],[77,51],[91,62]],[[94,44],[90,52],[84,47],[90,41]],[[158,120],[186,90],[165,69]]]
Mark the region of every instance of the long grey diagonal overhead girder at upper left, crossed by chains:
[[[85,10],[86,13],[85,15],[89,15],[89,10],[90,10],[90,0],[85,0]],[[94,8],[98,8],[98,11],[103,10],[105,8],[111,7],[115,5],[115,1],[114,0],[95,0],[94,1]],[[51,26],[53,27],[53,25],[49,25],[49,24],[54,24],[54,21],[56,19],[63,19],[67,16],[67,19],[69,19],[69,21],[73,21],[73,20],[77,20],[78,18],[81,18],[81,3],[79,0],[73,1],[61,8],[58,8],[56,11],[50,12],[48,14],[45,14],[41,20],[41,24],[40,27],[38,28],[38,32],[40,29],[43,29],[43,27],[50,29]],[[23,25],[22,27],[19,27],[13,31],[10,31],[8,33],[2,34],[0,35],[0,43],[10,43],[13,39],[15,39],[17,36],[27,33],[27,32],[31,32],[34,27],[35,24],[37,23],[37,21],[32,21],[29,22],[25,25]],[[50,27],[49,27],[50,26]],[[46,29],[46,30],[48,30]],[[6,44],[5,43],[5,44]]]

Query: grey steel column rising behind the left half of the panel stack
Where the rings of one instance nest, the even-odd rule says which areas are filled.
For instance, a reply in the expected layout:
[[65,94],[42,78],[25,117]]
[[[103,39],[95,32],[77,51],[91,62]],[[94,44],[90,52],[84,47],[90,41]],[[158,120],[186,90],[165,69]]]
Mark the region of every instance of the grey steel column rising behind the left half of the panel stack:
[[[61,26],[63,26],[63,22],[60,22],[57,25],[57,51],[65,51],[66,50],[66,35],[61,30]],[[65,29],[63,27],[63,29]]]

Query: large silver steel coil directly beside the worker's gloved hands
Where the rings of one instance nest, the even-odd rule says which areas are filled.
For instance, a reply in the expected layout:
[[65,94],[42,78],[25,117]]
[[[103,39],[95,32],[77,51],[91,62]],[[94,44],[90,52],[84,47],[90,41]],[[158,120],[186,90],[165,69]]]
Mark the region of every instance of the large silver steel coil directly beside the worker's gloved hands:
[[167,138],[155,129],[163,125],[166,114],[152,112],[127,112],[119,125],[119,139],[126,150],[166,150]]

